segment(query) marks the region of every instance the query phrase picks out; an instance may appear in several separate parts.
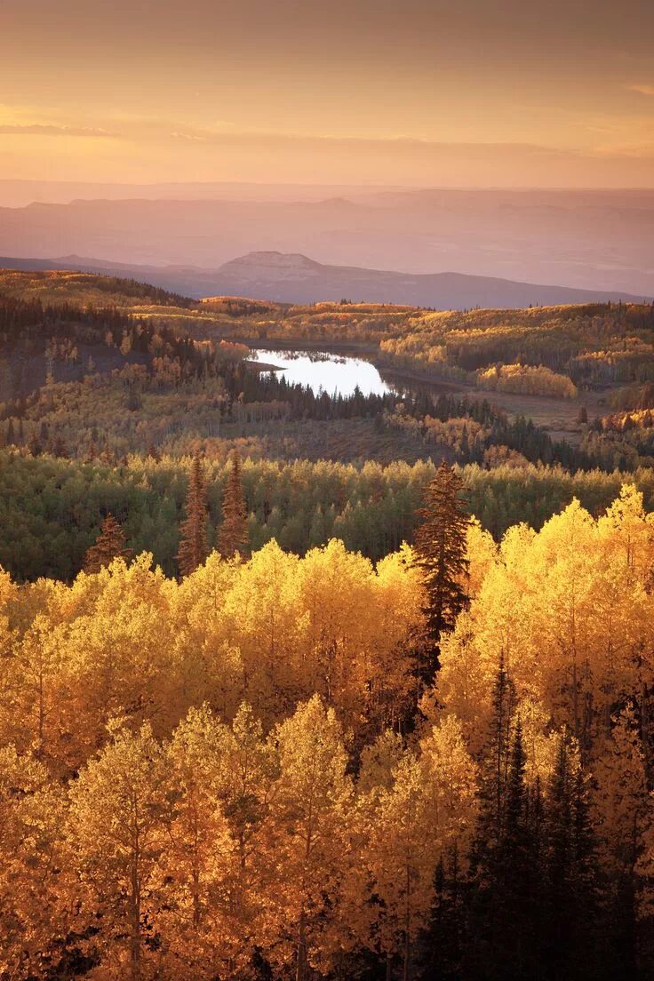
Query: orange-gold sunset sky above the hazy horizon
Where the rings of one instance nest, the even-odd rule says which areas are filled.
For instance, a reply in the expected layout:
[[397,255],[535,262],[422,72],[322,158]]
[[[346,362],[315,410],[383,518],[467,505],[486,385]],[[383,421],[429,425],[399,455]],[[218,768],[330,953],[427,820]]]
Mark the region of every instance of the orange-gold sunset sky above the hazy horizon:
[[3,0],[0,179],[654,186],[654,4]]

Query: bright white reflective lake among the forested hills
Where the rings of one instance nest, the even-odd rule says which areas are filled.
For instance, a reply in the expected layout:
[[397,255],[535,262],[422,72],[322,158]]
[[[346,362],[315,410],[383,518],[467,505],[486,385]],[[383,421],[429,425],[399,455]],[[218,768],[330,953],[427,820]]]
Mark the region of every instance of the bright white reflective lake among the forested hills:
[[276,365],[289,384],[310,387],[315,394],[352,395],[358,386],[363,395],[383,395],[394,389],[386,385],[375,365],[362,358],[341,357],[327,351],[253,350],[253,361]]

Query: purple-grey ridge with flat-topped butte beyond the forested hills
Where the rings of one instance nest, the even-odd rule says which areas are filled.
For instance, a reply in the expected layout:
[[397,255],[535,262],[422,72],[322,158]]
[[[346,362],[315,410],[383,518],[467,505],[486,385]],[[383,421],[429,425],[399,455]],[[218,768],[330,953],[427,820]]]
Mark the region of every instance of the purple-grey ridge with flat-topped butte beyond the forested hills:
[[58,259],[0,257],[0,267],[17,270],[73,270],[134,279],[163,286],[186,296],[247,296],[286,303],[320,300],[397,303],[462,310],[471,307],[520,308],[529,304],[618,301],[642,302],[647,297],[619,290],[519,283],[461,273],[410,275],[357,266],[328,266],[305,255],[250,252],[218,269],[197,266],[141,266],[103,262],[76,255]]

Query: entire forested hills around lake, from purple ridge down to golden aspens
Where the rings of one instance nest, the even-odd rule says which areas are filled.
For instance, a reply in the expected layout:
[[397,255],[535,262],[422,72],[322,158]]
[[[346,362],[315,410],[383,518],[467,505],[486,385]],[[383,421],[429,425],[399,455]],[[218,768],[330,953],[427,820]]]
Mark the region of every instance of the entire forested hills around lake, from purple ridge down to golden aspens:
[[[620,332],[639,332],[644,343],[649,308],[435,314],[232,298],[196,309],[144,284],[80,274],[10,272],[2,287],[0,513],[7,532],[0,561],[19,579],[46,573],[70,581],[110,510],[130,546],[152,551],[173,574],[188,458],[197,452],[207,461],[210,541],[221,521],[226,459],[237,449],[245,458],[250,542],[257,548],[275,538],[299,554],[335,536],[377,560],[412,541],[430,461],[441,459],[464,468],[473,512],[496,538],[518,521],[540,527],[574,495],[599,513],[620,485],[614,470],[633,472],[650,506],[651,386],[607,391],[613,406],[602,417],[579,411],[573,445],[494,401],[505,369],[485,371],[495,373],[486,397],[471,387],[408,381],[384,395],[317,395],[256,370],[248,347],[226,339],[271,333],[277,341],[384,348],[402,336],[420,365],[428,348],[416,347],[417,338],[423,344],[437,332],[445,357],[438,370],[451,356],[470,371],[513,336],[541,364],[514,366],[514,379],[526,379],[525,372],[560,372],[564,355],[585,345],[617,344]],[[113,305],[97,305],[104,296]],[[207,316],[205,308],[217,318],[211,329],[193,320]],[[185,333],[189,322],[194,337]],[[408,327],[420,333],[407,334]],[[542,364],[548,359],[552,368]],[[520,397],[528,413],[530,396]]]

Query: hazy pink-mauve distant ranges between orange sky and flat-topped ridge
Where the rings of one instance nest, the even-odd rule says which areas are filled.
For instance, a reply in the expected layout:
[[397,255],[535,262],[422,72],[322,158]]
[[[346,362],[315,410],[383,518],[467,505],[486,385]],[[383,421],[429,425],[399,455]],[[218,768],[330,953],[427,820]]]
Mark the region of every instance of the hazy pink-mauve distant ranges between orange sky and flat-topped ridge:
[[[0,207],[0,255],[217,271],[254,250],[299,252],[327,266],[410,278],[455,270],[654,294],[654,190],[21,187],[23,200],[77,189],[81,196]],[[0,203],[21,200],[15,191],[3,197],[0,185]]]

